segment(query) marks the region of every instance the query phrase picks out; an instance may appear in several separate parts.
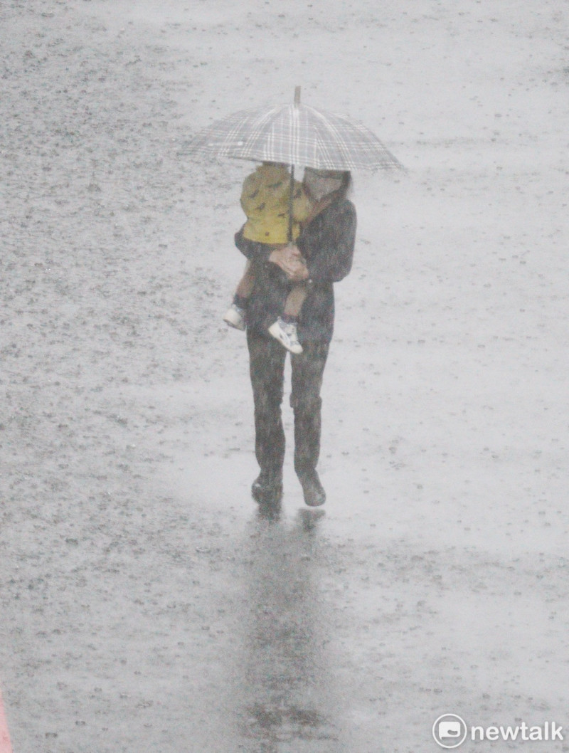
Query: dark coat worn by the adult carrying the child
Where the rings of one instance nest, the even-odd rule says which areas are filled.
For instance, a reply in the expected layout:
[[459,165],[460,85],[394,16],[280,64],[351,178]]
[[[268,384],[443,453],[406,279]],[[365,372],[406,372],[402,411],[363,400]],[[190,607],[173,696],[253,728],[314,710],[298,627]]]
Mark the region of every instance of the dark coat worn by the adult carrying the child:
[[[329,343],[332,339],[333,283],[351,270],[355,231],[354,205],[339,198],[316,215],[297,239],[309,270],[309,291],[298,322],[300,343]],[[254,270],[254,289],[247,306],[248,327],[264,333],[285,309],[292,284],[280,267],[268,261],[272,248],[245,239],[242,229],[236,233],[235,244],[251,260]]]

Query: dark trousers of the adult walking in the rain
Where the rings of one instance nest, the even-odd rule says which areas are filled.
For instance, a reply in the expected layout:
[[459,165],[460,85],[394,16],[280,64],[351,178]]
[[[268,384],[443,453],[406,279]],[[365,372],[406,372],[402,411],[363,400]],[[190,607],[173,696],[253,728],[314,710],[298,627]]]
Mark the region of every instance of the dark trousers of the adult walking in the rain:
[[[261,471],[279,476],[285,460],[281,404],[288,351],[273,337],[251,330],[247,331],[247,344],[254,399],[255,455]],[[306,343],[302,353],[291,353],[294,470],[297,474],[316,468],[320,455],[320,389],[328,349],[328,343]]]

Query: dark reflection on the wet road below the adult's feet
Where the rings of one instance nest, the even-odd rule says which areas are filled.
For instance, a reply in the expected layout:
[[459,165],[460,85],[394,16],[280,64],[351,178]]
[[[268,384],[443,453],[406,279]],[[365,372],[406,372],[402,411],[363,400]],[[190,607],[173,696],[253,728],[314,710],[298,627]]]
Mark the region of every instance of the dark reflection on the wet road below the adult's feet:
[[344,751],[318,584],[318,519],[260,514],[245,535],[248,614],[236,697],[240,750]]

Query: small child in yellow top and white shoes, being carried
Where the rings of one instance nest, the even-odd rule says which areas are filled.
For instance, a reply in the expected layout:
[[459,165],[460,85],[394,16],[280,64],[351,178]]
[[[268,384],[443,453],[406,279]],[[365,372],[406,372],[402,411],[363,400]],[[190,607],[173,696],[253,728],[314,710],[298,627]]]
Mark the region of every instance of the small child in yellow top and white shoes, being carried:
[[[272,248],[281,248],[289,240],[296,240],[300,234],[300,222],[308,218],[312,203],[307,197],[303,184],[294,181],[292,239],[288,237],[288,212],[291,191],[291,174],[287,166],[275,162],[263,162],[255,172],[248,175],[243,183],[241,206],[247,221],[243,236],[248,240],[266,243]],[[245,309],[254,285],[251,262],[247,262],[245,273],[233,297],[233,303],[224,316],[231,327],[245,329]],[[298,341],[297,322],[300,309],[306,298],[306,285],[295,284],[288,294],[285,309],[277,321],[269,327],[269,334],[275,337],[286,349],[302,353]]]

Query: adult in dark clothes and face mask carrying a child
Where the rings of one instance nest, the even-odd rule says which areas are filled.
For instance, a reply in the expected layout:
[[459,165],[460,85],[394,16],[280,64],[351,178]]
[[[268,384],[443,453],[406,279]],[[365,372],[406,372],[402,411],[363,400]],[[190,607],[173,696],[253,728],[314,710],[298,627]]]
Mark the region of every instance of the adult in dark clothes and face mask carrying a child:
[[326,501],[316,466],[321,387],[335,319],[334,286],[351,270],[357,225],[356,210],[348,198],[349,172],[307,166],[303,186],[313,204],[294,244],[268,252],[263,243],[246,239],[242,228],[235,236],[237,248],[251,260],[256,278],[247,307],[247,346],[260,473],[252,483],[251,495],[261,508],[275,510],[282,496],[285,461],[281,406],[288,352],[269,335],[267,323],[277,319],[291,285],[306,282],[308,293],[298,322],[303,352],[290,357],[294,470],[306,505],[317,507]]

